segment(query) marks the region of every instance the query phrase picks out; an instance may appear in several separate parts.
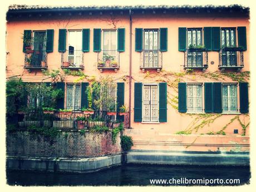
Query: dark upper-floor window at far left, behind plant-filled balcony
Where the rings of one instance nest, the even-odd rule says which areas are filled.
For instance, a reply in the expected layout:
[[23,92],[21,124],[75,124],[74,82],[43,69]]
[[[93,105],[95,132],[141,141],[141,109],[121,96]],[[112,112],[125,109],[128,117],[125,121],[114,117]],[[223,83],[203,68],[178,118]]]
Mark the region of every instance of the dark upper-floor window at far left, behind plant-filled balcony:
[[46,31],[33,31],[33,50],[30,65],[40,67],[46,61]]

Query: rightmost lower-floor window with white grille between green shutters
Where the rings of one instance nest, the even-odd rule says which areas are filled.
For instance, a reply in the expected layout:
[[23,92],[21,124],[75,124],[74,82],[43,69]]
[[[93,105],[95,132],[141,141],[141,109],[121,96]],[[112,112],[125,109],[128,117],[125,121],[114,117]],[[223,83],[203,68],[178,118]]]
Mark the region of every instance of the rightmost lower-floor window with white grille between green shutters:
[[222,108],[223,112],[238,111],[237,84],[222,85]]

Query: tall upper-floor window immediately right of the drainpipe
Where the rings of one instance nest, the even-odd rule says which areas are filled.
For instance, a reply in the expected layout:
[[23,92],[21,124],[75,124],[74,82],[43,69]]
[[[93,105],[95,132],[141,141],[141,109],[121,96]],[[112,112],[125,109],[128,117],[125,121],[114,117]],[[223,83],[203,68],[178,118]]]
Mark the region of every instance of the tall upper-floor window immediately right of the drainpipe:
[[144,29],[144,67],[158,67],[158,29]]

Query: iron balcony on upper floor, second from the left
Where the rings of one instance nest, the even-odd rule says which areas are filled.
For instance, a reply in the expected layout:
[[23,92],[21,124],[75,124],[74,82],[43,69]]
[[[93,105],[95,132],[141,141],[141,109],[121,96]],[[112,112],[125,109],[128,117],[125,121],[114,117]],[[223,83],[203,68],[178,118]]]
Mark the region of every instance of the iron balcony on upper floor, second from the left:
[[82,50],[67,50],[61,53],[61,68],[83,70]]

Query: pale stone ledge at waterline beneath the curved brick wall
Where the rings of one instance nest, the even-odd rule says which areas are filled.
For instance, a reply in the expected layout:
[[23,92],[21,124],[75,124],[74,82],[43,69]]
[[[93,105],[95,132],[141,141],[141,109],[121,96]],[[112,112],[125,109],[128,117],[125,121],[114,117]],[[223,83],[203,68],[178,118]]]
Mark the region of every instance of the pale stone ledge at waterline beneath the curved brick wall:
[[50,172],[90,173],[121,165],[121,154],[83,159],[8,156],[6,168]]

